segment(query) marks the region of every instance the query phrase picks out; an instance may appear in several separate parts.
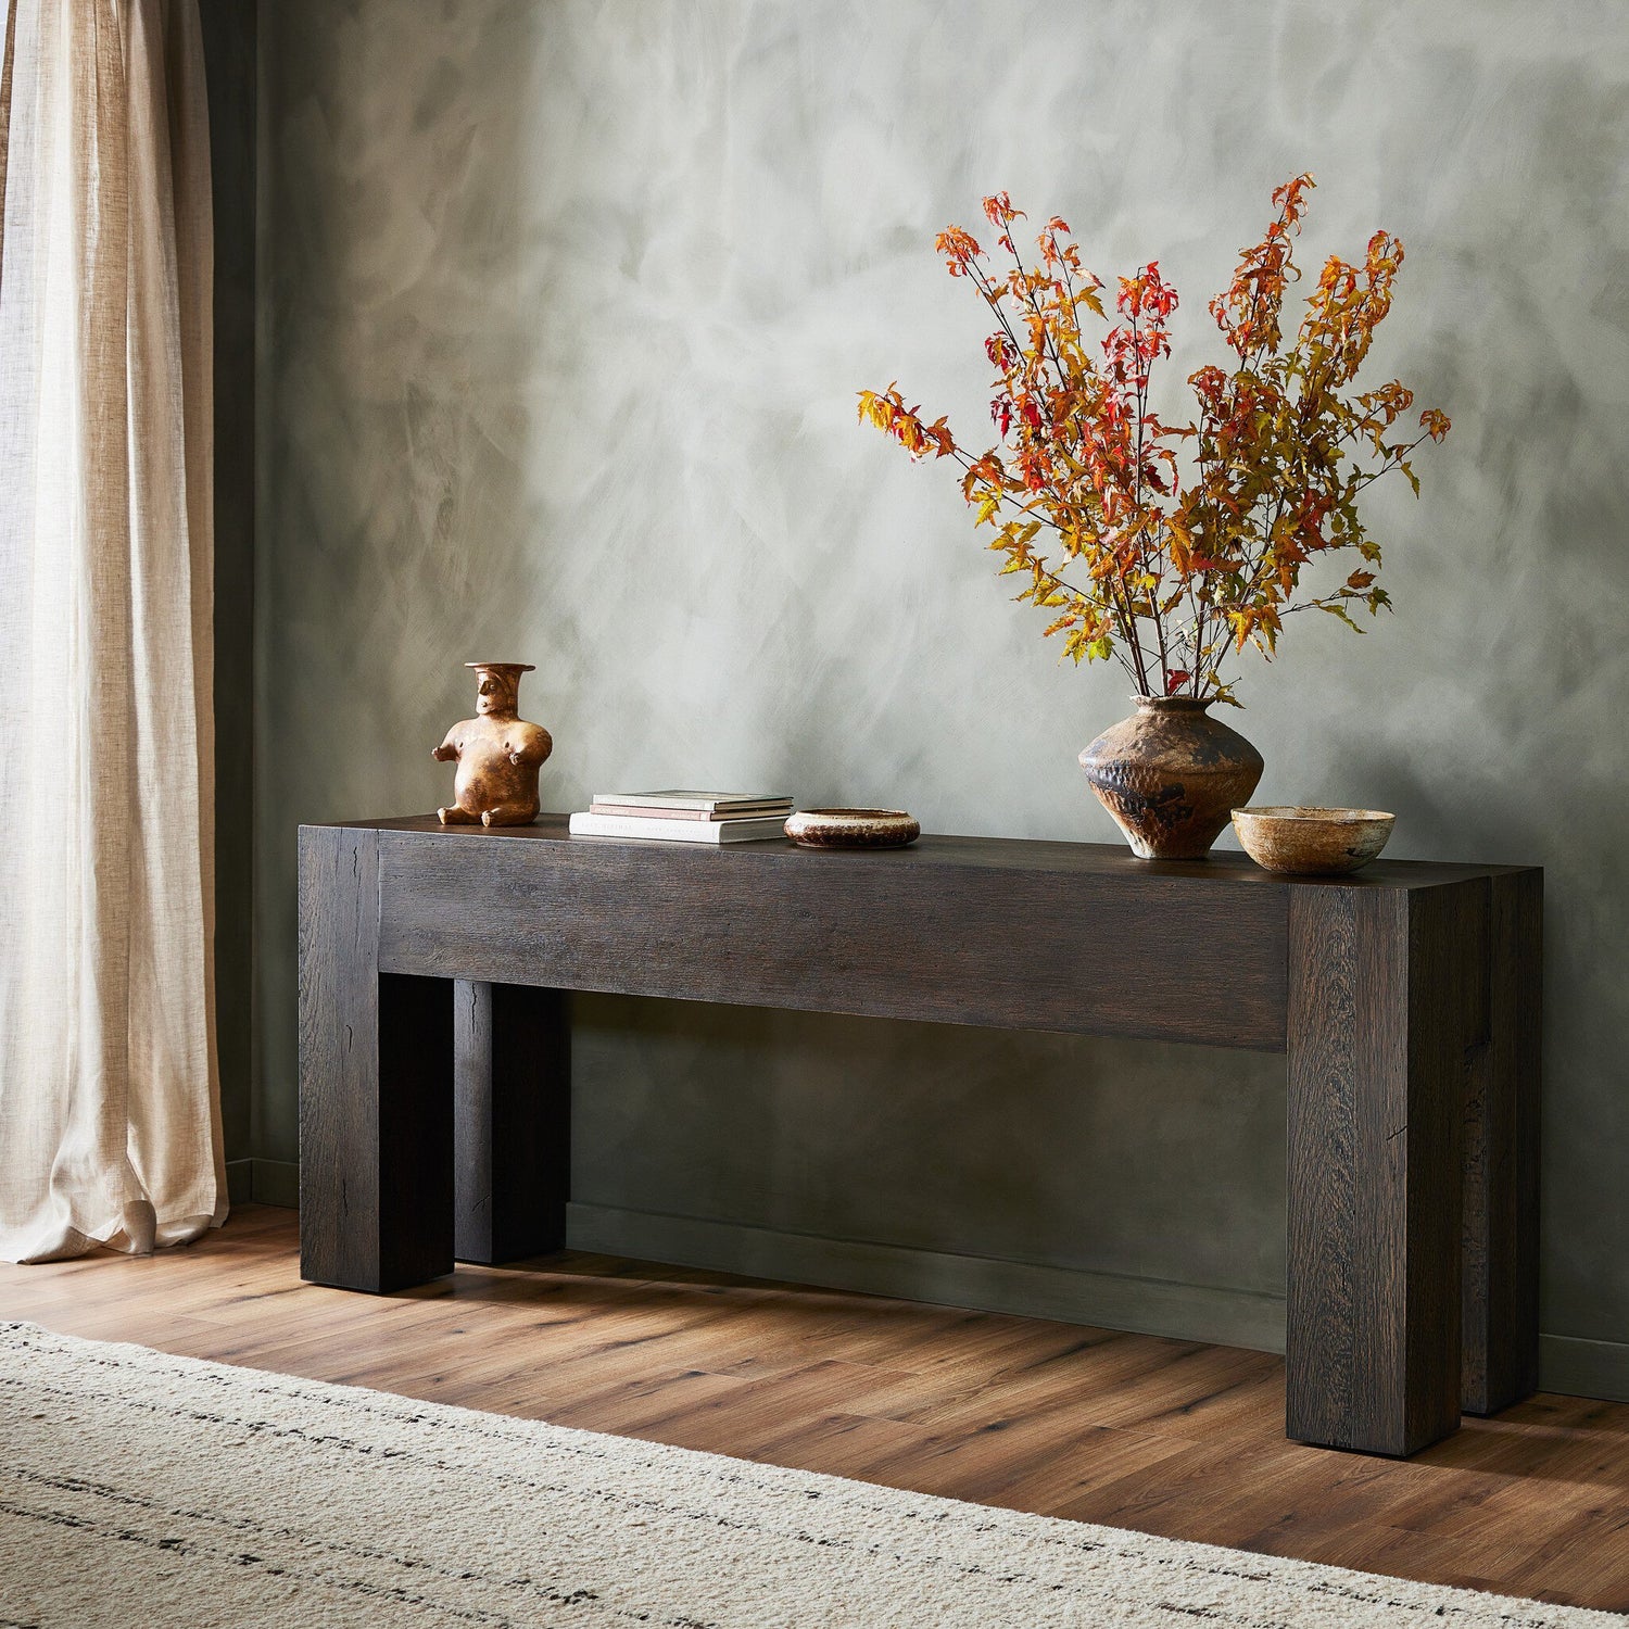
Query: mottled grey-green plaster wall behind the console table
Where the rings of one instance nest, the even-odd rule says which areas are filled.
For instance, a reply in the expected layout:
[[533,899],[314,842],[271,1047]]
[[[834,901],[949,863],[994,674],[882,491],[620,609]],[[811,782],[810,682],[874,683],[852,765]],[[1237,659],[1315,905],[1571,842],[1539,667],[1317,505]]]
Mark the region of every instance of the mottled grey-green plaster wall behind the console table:
[[[555,808],[775,785],[1113,839],[1075,753],[1122,679],[1059,666],[854,393],[982,433],[932,239],[1000,187],[1104,277],[1160,259],[1178,381],[1313,169],[1303,256],[1404,238],[1375,378],[1455,430],[1419,502],[1372,494],[1398,614],[1297,619],[1238,722],[1262,801],[1548,868],[1546,1373],[1629,1385],[1621,5],[266,0],[261,52],[269,1168],[295,826],[433,806],[472,656],[538,665]],[[583,999],[575,1078],[578,1241],[1279,1339],[1274,1059]]]

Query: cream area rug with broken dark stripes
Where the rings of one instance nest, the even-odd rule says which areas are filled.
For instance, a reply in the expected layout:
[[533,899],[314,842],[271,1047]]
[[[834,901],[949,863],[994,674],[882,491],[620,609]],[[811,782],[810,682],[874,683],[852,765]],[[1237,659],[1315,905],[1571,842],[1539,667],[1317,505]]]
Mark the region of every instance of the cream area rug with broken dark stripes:
[[1622,1622],[0,1324],[7,1629]]

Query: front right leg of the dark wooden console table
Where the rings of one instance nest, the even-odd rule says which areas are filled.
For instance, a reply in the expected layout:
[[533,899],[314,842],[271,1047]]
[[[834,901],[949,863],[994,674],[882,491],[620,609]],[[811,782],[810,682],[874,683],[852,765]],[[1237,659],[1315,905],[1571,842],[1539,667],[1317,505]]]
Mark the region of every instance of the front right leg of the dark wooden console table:
[[1466,1049],[1487,881],[1290,891],[1289,1437],[1407,1455],[1460,1424]]

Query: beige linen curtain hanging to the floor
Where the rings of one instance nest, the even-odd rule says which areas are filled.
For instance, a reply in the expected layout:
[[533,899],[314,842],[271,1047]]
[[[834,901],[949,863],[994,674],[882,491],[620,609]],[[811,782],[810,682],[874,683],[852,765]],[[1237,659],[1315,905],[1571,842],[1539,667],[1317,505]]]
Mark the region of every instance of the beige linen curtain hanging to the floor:
[[225,1217],[197,0],[0,0],[0,1258]]

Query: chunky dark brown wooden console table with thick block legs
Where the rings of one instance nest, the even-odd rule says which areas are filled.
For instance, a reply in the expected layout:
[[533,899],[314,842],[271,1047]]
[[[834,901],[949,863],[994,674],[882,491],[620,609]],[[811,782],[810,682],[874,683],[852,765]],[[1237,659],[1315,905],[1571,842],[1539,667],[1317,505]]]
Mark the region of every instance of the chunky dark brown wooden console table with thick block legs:
[[305,826],[301,1274],[564,1245],[565,990],[1285,1052],[1287,1434],[1412,1453],[1536,1380],[1541,909],[1531,868]]

